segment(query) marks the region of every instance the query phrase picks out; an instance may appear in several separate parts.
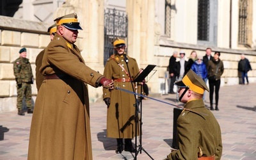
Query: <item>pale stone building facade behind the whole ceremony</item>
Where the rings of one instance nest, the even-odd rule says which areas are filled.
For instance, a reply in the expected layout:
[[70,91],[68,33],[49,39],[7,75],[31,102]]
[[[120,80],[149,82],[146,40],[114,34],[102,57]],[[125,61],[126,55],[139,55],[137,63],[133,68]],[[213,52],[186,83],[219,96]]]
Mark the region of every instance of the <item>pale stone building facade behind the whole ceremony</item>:
[[[221,86],[239,84],[237,64],[241,53],[246,54],[252,68],[256,68],[256,32],[252,29],[256,24],[256,12],[253,12],[256,3],[252,0],[244,0],[243,4],[239,0],[206,2],[67,0],[62,4],[63,1],[55,0],[24,0],[13,17],[0,16],[0,112],[16,109],[12,63],[18,58],[19,49],[27,48],[35,76],[35,58],[50,41],[47,28],[56,17],[72,12],[77,13],[83,28],[76,45],[81,49],[86,65],[101,73],[104,70],[104,11],[116,8],[127,13],[125,38],[129,56],[136,58],[140,68],[157,65],[156,74],[148,81],[150,93],[168,92],[166,68],[173,51],[183,50],[189,58],[193,50],[204,55],[207,47],[221,52],[225,67]],[[243,15],[239,10],[246,10],[245,20],[240,18]],[[200,17],[205,13],[207,17]],[[201,19],[207,19],[206,27],[200,23]],[[200,35],[204,30],[207,34]],[[248,72],[248,76],[251,83],[256,82],[255,70]],[[91,102],[102,100],[101,88],[89,87],[89,90]],[[35,84],[32,91],[35,100]]]

